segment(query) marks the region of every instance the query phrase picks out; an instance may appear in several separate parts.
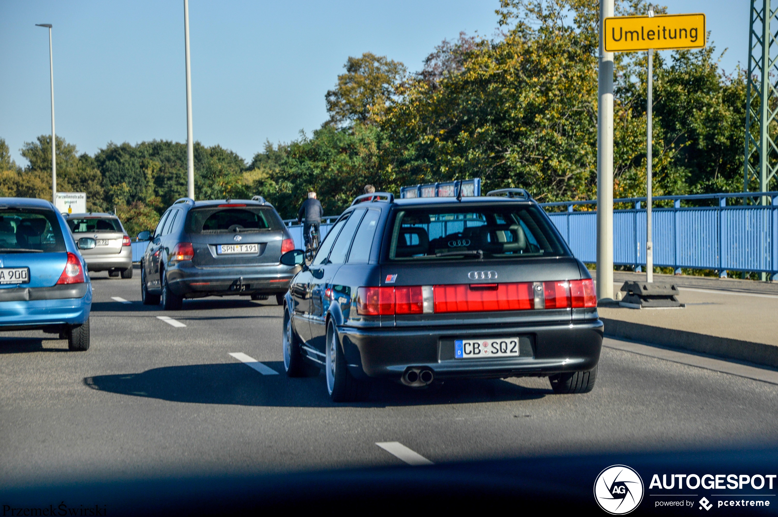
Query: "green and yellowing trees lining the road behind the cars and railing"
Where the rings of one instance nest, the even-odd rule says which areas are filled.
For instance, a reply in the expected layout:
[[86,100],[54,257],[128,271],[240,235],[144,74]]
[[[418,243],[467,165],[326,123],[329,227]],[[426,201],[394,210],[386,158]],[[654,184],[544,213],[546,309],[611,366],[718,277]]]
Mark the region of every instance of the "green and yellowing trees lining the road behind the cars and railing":
[[[619,14],[647,9],[617,4]],[[481,177],[486,189],[523,187],[538,201],[595,197],[598,2],[502,0],[496,16],[499,35],[444,40],[418,72],[370,52],[349,58],[324,95],[328,121],[266,142],[249,163],[195,143],[198,197],[261,194],[284,218],[308,190],[338,214],[366,183],[398,192]],[[654,195],[742,188],[745,73],[727,75],[719,56],[709,36],[704,50],[655,57]],[[616,54],[615,197],[645,195],[646,59]],[[12,162],[0,139],[0,196],[51,197],[51,137],[22,155],[29,165]],[[186,169],[184,143],[109,142],[88,155],[57,138],[58,190],[115,209],[133,234],[186,195]]]

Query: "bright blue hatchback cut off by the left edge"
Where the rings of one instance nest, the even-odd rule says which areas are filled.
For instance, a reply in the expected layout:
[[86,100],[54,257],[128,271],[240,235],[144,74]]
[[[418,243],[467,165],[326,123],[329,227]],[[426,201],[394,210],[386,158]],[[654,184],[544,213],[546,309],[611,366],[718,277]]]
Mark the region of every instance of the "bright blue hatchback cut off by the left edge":
[[0,330],[43,330],[89,348],[92,286],[65,218],[49,201],[0,197]]

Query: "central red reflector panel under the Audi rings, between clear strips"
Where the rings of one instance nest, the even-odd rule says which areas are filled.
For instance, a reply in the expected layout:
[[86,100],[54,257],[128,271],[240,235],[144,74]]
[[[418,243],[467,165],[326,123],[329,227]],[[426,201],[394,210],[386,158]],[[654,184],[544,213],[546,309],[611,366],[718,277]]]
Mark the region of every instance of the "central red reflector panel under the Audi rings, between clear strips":
[[436,313],[472,313],[534,308],[532,282],[436,285]]

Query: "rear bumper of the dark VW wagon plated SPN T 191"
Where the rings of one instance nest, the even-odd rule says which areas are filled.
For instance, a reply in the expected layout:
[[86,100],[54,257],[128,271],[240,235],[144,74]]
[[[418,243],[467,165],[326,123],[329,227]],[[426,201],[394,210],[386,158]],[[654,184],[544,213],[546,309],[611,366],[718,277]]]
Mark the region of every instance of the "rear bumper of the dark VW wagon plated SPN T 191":
[[209,295],[277,294],[289,290],[299,267],[272,264],[251,267],[195,267],[191,262],[170,267],[170,290],[187,298]]

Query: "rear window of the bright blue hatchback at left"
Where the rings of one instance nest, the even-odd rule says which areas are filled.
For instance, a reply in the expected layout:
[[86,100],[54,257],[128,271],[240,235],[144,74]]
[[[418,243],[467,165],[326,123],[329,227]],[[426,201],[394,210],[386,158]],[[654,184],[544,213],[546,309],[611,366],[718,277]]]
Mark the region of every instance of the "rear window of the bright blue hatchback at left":
[[0,210],[0,253],[61,253],[65,238],[54,211],[36,208]]

